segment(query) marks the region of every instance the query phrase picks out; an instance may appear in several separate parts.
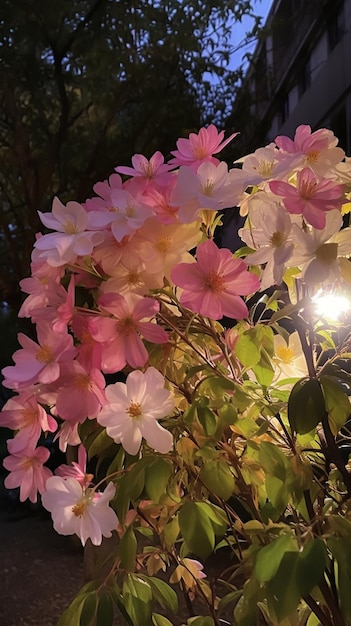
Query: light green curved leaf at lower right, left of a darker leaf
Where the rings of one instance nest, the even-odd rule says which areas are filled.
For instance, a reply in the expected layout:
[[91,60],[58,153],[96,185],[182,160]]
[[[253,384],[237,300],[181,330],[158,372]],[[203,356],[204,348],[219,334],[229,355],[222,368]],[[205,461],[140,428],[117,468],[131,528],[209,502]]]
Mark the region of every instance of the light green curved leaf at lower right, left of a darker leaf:
[[296,540],[285,533],[257,553],[255,575],[260,583],[271,580],[278,571],[285,552],[297,551]]

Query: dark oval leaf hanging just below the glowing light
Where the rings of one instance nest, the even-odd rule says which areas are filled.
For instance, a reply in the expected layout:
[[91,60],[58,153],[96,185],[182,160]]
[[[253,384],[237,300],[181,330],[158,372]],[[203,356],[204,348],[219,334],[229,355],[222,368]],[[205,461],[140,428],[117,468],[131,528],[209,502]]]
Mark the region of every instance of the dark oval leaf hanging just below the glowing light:
[[294,432],[313,430],[325,414],[321,386],[315,378],[303,378],[294,385],[288,401],[288,419]]

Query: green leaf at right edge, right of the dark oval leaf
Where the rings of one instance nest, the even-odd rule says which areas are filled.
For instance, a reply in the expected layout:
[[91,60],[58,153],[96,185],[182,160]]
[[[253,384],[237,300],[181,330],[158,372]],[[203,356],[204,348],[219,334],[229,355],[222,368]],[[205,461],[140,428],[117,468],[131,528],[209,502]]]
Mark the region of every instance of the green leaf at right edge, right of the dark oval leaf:
[[332,376],[321,376],[320,382],[324,393],[325,407],[329,414],[330,426],[336,435],[350,416],[350,400],[338,379]]

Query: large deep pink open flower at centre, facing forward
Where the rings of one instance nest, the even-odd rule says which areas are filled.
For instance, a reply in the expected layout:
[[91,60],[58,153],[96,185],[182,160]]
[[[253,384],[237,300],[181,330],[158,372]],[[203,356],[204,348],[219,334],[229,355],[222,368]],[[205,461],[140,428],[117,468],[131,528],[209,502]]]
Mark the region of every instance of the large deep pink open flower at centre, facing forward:
[[246,317],[248,309],[239,296],[256,291],[258,277],[247,271],[244,261],[210,239],[198,246],[196,258],[196,263],[179,263],[171,272],[173,282],[183,289],[180,303],[214,320],[224,315]]

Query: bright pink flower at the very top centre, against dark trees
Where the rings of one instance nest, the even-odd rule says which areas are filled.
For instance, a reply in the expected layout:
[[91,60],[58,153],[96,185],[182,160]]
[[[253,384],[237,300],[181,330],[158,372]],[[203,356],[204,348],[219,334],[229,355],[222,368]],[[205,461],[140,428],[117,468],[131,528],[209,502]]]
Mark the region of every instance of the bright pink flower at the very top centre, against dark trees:
[[218,154],[238,133],[233,133],[223,141],[224,131],[218,132],[217,128],[210,124],[207,128],[201,128],[198,135],[190,133],[189,139],[178,139],[177,150],[171,152],[174,157],[169,161],[170,165],[188,165],[197,170],[199,165],[206,161],[219,163],[213,154]]

